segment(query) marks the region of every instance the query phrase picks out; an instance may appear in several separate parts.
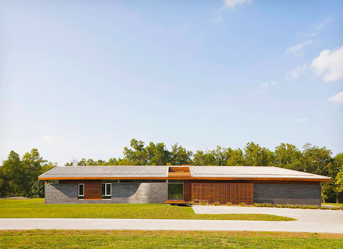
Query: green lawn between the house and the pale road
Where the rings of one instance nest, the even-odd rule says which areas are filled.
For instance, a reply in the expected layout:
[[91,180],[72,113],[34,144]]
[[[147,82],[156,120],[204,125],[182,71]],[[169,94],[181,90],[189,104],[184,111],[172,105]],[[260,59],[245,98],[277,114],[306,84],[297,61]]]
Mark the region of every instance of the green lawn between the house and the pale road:
[[157,218],[287,221],[262,214],[195,214],[190,207],[165,204],[43,204],[44,199],[0,200],[0,218]]

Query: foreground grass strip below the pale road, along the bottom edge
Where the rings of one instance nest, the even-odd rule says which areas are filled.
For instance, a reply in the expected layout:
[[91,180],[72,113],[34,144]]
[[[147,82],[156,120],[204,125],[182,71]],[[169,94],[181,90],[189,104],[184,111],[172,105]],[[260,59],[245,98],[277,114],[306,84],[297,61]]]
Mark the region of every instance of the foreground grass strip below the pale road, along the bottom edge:
[[343,248],[342,234],[224,231],[0,231],[0,248]]

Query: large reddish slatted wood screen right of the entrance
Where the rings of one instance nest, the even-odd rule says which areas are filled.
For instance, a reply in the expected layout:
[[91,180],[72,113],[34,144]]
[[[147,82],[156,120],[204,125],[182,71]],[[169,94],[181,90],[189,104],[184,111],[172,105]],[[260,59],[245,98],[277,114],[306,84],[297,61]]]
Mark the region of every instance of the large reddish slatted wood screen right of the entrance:
[[205,201],[209,204],[215,201],[220,204],[231,202],[238,205],[245,202],[253,204],[253,184],[231,184],[231,183],[192,183],[192,201]]

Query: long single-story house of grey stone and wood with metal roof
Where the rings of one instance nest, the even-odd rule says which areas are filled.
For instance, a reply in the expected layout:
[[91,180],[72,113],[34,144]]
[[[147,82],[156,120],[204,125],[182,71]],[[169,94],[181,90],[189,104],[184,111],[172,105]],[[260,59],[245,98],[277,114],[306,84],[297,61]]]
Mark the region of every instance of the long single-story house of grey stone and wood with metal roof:
[[259,166],[63,166],[45,180],[45,203],[220,202],[320,205],[330,177]]

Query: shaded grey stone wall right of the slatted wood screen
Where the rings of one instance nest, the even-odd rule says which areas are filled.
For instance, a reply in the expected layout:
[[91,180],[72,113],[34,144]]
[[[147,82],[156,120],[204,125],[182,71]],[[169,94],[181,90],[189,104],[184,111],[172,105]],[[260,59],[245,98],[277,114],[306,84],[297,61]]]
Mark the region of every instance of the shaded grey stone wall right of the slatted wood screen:
[[254,202],[320,206],[320,184],[254,184]]

